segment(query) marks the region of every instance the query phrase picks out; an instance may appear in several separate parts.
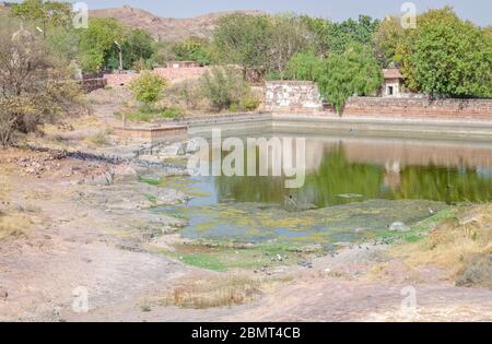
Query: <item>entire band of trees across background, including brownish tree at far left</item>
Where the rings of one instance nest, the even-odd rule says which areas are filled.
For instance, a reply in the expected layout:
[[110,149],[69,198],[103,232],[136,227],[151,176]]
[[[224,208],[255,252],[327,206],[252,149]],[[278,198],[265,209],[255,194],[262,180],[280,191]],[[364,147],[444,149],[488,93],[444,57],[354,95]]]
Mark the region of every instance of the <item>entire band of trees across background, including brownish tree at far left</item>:
[[[400,67],[412,92],[492,97],[492,28],[462,21],[448,7],[420,14],[417,28],[407,29],[397,16],[380,21],[361,15],[335,23],[292,13],[234,13],[219,21],[210,39],[180,41],[156,40],[115,19],[90,19],[87,28],[75,28],[73,15],[68,2],[25,0],[2,17],[0,127],[9,128],[0,132],[2,142],[10,141],[14,131],[33,130],[47,118],[44,115],[60,112],[75,99],[67,83],[70,61],[77,60],[84,72],[114,70],[120,49],[124,69],[149,70],[168,60],[234,66],[242,76],[215,70],[204,78],[216,108],[255,103],[233,92],[243,86],[231,86],[242,85],[234,78],[254,75],[315,81],[325,99],[342,112],[350,96],[377,94],[382,69],[391,64]],[[15,31],[25,37],[11,39]]]

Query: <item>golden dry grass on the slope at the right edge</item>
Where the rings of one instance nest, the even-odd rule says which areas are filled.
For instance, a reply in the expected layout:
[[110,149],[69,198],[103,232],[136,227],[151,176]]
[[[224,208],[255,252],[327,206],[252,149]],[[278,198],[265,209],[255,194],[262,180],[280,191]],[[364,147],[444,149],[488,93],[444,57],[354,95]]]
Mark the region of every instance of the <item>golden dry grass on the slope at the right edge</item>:
[[430,235],[414,244],[391,250],[409,266],[435,264],[450,271],[450,278],[461,274],[478,259],[492,253],[492,204],[468,209],[442,222]]

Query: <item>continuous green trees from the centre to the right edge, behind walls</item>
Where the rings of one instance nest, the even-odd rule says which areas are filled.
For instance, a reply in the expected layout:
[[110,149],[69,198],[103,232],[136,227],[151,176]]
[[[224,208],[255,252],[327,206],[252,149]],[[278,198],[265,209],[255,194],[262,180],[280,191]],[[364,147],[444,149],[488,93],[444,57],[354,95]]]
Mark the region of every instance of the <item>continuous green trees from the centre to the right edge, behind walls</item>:
[[[318,82],[339,112],[348,97],[378,92],[377,69],[401,66],[409,90],[433,97],[492,96],[492,36],[461,21],[450,8],[418,17],[417,29],[399,19],[383,22],[361,15],[331,23],[295,15],[225,16],[214,35],[214,51],[239,64],[244,76]],[[355,78],[352,78],[355,75]]]

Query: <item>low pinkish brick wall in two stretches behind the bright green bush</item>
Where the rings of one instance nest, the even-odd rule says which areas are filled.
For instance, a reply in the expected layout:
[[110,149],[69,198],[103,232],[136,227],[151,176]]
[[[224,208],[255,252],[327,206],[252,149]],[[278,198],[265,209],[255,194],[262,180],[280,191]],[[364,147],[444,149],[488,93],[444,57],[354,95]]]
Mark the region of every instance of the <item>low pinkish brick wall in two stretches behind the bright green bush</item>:
[[[204,72],[209,71],[209,67],[196,67],[196,68],[156,68],[152,72],[156,73],[169,83],[178,83],[186,80],[197,80]],[[139,74],[104,74],[104,79],[107,80],[109,87],[126,86]]]

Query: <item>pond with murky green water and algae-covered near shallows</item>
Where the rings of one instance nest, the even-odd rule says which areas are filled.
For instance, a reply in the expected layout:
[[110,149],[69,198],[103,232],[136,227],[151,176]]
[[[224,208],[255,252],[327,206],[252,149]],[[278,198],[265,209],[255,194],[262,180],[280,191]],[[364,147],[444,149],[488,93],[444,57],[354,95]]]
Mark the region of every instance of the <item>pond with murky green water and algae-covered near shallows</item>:
[[165,181],[195,193],[160,209],[189,220],[189,238],[332,245],[414,225],[461,202],[492,200],[492,145],[307,138],[306,178],[194,177]]

